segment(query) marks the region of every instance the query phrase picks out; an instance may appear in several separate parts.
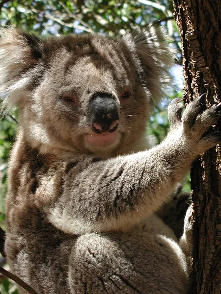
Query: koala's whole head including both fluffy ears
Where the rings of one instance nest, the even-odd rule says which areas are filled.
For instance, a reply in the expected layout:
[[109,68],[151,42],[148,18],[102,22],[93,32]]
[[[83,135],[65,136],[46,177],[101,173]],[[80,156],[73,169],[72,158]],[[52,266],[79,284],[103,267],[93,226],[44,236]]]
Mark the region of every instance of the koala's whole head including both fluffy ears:
[[130,152],[169,81],[173,52],[161,28],[121,39],[40,38],[14,28],[1,36],[3,104],[17,106],[22,132],[40,152]]

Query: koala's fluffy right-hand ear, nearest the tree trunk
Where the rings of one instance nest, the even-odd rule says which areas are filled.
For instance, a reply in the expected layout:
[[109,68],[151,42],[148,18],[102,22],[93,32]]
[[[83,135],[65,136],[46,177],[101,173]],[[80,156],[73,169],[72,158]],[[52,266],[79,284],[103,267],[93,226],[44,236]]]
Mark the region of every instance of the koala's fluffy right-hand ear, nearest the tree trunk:
[[176,50],[171,46],[169,36],[162,27],[148,25],[125,34],[123,39],[135,55],[144,85],[158,103],[172,80],[169,69],[174,64]]

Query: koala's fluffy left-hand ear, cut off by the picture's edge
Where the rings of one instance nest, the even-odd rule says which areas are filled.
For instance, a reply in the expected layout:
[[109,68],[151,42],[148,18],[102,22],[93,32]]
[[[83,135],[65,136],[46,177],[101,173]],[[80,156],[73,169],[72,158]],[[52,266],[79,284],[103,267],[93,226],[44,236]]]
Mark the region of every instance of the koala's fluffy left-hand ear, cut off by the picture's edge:
[[41,58],[41,39],[13,27],[0,31],[0,92],[7,94],[4,106],[16,105],[30,82],[28,71]]

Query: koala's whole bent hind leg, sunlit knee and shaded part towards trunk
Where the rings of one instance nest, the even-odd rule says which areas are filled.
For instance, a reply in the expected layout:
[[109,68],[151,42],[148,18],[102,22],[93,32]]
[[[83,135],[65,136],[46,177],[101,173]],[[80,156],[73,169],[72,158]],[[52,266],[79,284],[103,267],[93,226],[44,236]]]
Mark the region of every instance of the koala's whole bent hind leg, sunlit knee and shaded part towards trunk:
[[188,293],[179,246],[142,230],[81,235],[70,255],[68,283],[71,294]]

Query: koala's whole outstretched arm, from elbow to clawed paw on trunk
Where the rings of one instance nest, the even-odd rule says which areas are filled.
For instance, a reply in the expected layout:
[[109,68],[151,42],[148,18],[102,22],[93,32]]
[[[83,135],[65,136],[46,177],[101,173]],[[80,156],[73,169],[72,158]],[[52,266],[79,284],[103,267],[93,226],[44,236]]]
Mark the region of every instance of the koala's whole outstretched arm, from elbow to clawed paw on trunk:
[[192,102],[181,122],[181,108],[174,101],[169,108],[172,132],[148,151],[65,163],[63,191],[46,209],[49,220],[67,233],[126,230],[157,210],[193,159],[220,140],[216,133],[203,136],[219,117],[216,106],[196,119],[200,105],[200,99]]

